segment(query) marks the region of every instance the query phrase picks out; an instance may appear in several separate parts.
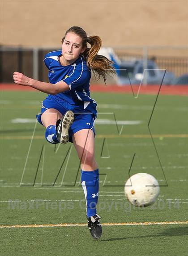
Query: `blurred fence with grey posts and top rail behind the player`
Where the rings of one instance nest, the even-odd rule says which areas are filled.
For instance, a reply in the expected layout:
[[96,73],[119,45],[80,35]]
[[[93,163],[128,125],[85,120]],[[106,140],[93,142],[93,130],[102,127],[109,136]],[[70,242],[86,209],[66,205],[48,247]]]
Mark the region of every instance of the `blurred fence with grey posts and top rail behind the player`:
[[[47,68],[43,58],[54,50],[57,49],[0,46],[0,82],[13,82],[14,71],[39,81],[47,81]],[[175,76],[188,73],[187,46],[115,47],[113,51],[122,63],[142,61],[147,68],[147,62],[152,61],[159,69],[173,72]]]

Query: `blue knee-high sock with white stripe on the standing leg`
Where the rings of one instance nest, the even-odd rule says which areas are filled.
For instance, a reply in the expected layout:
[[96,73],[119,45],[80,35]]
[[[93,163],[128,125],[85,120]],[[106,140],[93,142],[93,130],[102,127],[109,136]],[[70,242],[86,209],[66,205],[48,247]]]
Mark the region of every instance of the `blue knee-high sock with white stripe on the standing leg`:
[[98,202],[98,169],[94,171],[81,171],[81,185],[85,194],[86,215],[94,216]]

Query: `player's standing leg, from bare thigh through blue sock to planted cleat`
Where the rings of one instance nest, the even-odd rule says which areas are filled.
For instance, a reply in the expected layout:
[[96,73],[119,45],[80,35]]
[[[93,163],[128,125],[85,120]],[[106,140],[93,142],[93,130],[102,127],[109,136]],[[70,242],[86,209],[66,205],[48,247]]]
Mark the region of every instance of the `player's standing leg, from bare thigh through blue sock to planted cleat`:
[[[82,171],[82,187],[85,193],[86,205],[87,205],[87,220],[90,234],[94,239],[98,239],[102,234],[102,227],[100,225],[100,216],[95,213],[92,216],[88,205],[98,201],[98,165],[94,157],[94,133],[90,129],[83,129],[76,132],[73,136],[73,144],[77,150],[78,157],[81,161]],[[93,180],[92,180],[93,178]],[[90,203],[90,204],[89,204]],[[95,204],[95,207],[96,207]],[[94,207],[94,208],[95,208]],[[88,215],[88,211],[90,214]]]

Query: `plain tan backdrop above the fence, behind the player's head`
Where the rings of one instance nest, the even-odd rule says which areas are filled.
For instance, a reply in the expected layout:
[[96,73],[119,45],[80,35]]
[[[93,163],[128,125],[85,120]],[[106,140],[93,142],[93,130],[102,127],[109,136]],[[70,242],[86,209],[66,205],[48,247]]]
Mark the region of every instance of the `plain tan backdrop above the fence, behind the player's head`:
[[81,26],[103,45],[187,45],[187,0],[0,0],[0,44],[59,47]]

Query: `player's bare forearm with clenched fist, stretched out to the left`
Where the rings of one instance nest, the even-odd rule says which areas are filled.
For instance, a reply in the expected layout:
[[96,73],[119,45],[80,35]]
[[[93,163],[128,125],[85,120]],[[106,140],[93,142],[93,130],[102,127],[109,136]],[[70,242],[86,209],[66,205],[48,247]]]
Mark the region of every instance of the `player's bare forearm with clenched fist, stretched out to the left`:
[[40,82],[40,81],[34,80],[32,78],[29,78],[19,72],[13,73],[13,80],[16,84],[30,86],[36,90],[39,90],[39,91],[47,93],[47,94],[55,95],[60,92],[70,90],[69,86],[63,81],[60,81],[56,84],[44,83],[44,82]]

